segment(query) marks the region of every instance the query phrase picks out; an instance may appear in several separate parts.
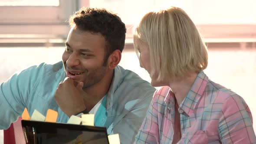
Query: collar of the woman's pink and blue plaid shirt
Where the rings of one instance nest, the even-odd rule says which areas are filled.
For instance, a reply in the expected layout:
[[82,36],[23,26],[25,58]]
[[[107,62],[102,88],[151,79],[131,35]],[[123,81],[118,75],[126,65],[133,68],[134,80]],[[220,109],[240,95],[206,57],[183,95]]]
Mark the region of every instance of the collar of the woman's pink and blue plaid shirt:
[[[181,105],[178,109],[180,113],[185,112],[189,116],[194,114],[194,109],[197,105],[197,102],[205,92],[207,83],[208,83],[207,75],[205,75],[203,71],[200,71],[192,87],[190,88],[190,91],[188,92],[187,96],[181,102]],[[170,89],[170,92],[165,97],[164,102],[167,105],[167,108],[169,109],[174,108],[175,99],[174,99],[174,93],[171,92],[171,89]]]

